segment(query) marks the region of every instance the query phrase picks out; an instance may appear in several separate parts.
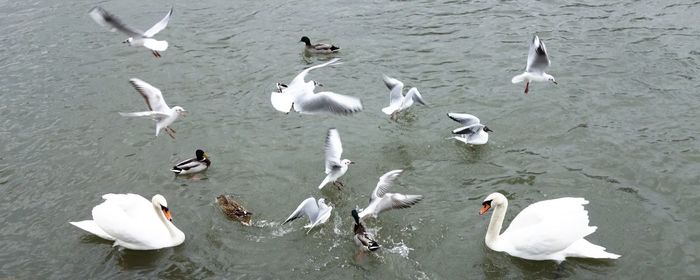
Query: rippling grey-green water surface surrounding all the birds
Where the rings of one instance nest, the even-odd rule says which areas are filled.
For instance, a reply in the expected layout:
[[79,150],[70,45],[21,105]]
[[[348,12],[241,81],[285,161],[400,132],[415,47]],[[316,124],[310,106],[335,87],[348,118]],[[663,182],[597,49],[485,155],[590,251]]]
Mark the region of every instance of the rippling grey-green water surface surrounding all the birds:
[[[0,278],[700,277],[699,2],[176,1],[162,59],[87,15],[101,5],[145,29],[167,12],[157,2],[0,1]],[[523,95],[510,78],[533,33],[559,85]],[[311,76],[364,112],[273,111],[275,82],[327,59],[303,56],[302,35],[343,48],[343,65]],[[390,121],[382,73],[429,106]],[[131,77],[190,112],[177,140],[117,114],[143,109]],[[447,112],[479,116],[491,141],[446,140]],[[329,127],[358,164],[345,190],[319,192]],[[212,157],[206,180],[174,179],[196,148]],[[406,170],[395,191],[426,198],[369,221],[384,248],[356,256],[349,211],[391,169]],[[623,257],[557,266],[489,250],[477,210],[494,191],[510,199],[506,224],[535,201],[586,197],[589,240]],[[187,240],[119,250],[67,223],[109,192],[163,194]],[[221,193],[253,227],[218,211]],[[330,221],[280,226],[308,196],[335,207]]]

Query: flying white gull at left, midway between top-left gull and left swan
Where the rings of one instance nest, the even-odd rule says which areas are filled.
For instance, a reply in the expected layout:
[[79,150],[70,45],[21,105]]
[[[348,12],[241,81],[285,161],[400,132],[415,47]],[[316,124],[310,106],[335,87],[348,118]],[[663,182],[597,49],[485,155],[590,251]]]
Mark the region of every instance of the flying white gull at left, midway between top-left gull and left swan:
[[163,99],[163,94],[160,90],[149,83],[146,83],[140,79],[130,79],[129,83],[138,91],[143,99],[146,100],[146,106],[148,106],[148,111],[134,112],[134,113],[119,113],[125,117],[151,117],[156,121],[156,137],[160,133],[161,129],[165,129],[165,132],[175,139],[175,130],[170,127],[170,125],[175,122],[177,117],[185,114],[185,109],[180,106],[174,106],[170,108],[168,104],[165,103]]

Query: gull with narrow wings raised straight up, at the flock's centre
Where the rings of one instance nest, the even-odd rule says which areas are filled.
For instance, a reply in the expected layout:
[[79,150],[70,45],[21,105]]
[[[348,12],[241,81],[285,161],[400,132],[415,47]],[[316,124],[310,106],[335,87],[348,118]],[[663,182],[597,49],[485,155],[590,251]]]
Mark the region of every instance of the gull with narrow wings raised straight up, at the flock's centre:
[[343,176],[345,172],[348,171],[350,164],[353,164],[354,162],[349,159],[340,159],[340,156],[343,154],[343,144],[340,142],[340,135],[338,134],[338,130],[335,128],[328,130],[328,134],[326,135],[325,152],[326,174],[328,175],[325,179],[323,179],[323,182],[318,185],[318,189],[322,189],[331,182],[338,189],[340,189],[340,187],[343,186],[343,183],[338,181],[338,178]]

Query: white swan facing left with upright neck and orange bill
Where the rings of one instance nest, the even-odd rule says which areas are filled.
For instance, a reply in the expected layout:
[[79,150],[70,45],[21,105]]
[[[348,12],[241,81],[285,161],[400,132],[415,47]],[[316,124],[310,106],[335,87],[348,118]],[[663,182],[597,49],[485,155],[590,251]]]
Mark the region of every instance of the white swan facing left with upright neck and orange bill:
[[583,239],[597,227],[588,225],[588,201],[580,197],[544,200],[525,207],[501,232],[508,199],[492,193],[484,199],[480,215],[493,208],[486,231],[486,246],[497,252],[528,260],[553,260],[561,263],[567,257],[617,259],[620,255],[608,253],[604,247]]

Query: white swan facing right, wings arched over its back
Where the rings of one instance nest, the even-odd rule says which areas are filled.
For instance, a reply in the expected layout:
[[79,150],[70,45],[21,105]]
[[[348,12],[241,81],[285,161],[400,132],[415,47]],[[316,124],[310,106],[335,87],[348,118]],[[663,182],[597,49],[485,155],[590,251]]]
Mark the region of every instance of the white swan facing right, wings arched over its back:
[[133,193],[110,193],[102,198],[105,201],[92,208],[92,220],[70,224],[132,250],[174,247],[185,241],[162,195],[154,195],[151,201]]

